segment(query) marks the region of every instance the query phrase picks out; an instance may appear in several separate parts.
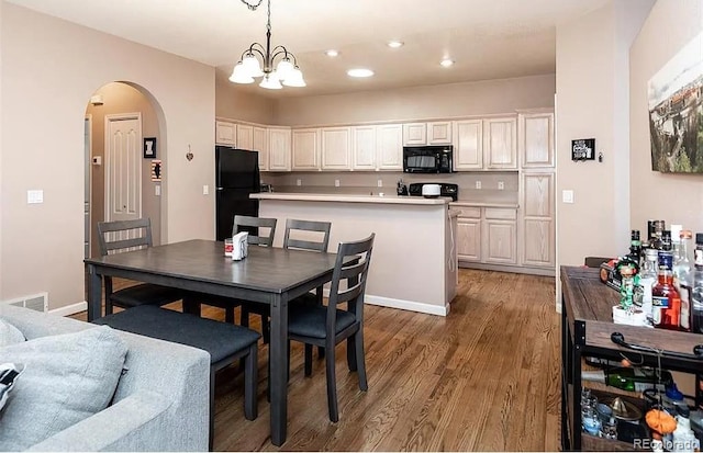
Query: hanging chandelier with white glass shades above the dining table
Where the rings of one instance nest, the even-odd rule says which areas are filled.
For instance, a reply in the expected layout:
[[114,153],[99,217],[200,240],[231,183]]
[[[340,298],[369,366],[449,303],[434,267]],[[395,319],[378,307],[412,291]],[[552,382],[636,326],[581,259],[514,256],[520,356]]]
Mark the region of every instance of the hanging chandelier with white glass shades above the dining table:
[[[254,11],[261,4],[252,4],[242,0],[249,10]],[[242,53],[239,61],[234,65],[230,81],[235,83],[254,83],[255,77],[263,77],[259,87],[269,90],[280,90],[281,83],[286,87],[305,87],[303,73],[298,67],[295,56],[283,46],[271,48],[271,0],[268,1],[268,22],[266,23],[266,47],[259,43],[254,43]],[[259,63],[258,57],[261,58]],[[276,60],[278,59],[278,65]],[[291,61],[292,59],[292,61]]]

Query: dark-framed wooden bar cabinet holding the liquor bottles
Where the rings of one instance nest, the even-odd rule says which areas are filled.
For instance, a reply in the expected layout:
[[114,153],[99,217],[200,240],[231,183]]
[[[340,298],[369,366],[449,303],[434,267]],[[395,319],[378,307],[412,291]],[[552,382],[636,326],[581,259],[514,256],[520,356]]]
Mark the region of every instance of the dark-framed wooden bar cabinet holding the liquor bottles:
[[[603,284],[598,269],[561,267],[561,450],[633,451],[633,444],[606,440],[581,431],[581,367],[583,356],[620,361],[621,354],[636,356],[644,365],[695,374],[695,404],[703,404],[701,376],[703,356],[694,348],[703,336],[613,322],[612,307],[620,294]],[[634,351],[611,339],[620,332],[631,344],[666,350],[669,353]],[[641,359],[640,359],[641,358]],[[613,387],[606,387],[606,390]],[[614,389],[617,390],[617,389]],[[611,395],[612,396],[612,395]],[[617,395],[620,396],[620,394]]]

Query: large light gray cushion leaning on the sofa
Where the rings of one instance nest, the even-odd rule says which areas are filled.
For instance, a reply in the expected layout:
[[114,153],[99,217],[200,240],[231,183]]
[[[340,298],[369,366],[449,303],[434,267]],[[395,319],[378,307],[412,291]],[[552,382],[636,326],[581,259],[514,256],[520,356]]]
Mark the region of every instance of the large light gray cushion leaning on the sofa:
[[126,356],[124,340],[102,326],[0,348],[25,365],[0,419],[0,451],[20,451],[103,410]]

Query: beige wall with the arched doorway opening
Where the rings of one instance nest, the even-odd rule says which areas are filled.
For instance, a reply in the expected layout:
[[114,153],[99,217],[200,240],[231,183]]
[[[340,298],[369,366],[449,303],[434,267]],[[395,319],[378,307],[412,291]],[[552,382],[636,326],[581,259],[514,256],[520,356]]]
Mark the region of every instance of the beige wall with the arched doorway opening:
[[[0,19],[0,298],[48,291],[51,309],[85,301],[83,116],[111,81],[143,87],[159,118],[164,241],[213,238],[202,185],[214,183],[214,69],[10,3]],[[26,204],[30,189],[44,190],[43,204]]]

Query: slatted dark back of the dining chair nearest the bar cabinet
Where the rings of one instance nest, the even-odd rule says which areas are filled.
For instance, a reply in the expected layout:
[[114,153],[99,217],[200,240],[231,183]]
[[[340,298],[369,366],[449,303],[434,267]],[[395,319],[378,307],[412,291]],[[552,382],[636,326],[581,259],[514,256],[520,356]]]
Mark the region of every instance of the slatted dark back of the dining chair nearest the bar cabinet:
[[[332,274],[327,309],[327,331],[334,331],[336,321],[336,308],[338,304],[347,303],[347,309],[355,314],[359,322],[364,319],[364,294],[366,292],[366,279],[371,263],[373,238],[371,234],[366,239],[353,242],[341,242],[337,248],[337,260]],[[344,264],[348,257],[355,261]],[[346,280],[346,288],[341,290],[341,283]]]

